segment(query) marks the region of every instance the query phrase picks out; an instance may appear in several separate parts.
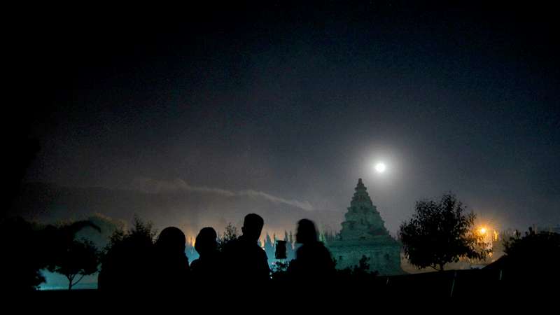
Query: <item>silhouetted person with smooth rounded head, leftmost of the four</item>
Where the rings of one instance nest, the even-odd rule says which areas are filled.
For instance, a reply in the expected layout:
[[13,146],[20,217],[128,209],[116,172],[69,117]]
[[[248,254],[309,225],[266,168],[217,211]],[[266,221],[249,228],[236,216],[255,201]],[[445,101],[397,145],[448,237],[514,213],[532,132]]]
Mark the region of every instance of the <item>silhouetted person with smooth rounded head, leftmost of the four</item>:
[[185,290],[190,273],[188,258],[185,255],[185,234],[178,228],[162,230],[155,241],[153,257],[153,285],[155,290]]

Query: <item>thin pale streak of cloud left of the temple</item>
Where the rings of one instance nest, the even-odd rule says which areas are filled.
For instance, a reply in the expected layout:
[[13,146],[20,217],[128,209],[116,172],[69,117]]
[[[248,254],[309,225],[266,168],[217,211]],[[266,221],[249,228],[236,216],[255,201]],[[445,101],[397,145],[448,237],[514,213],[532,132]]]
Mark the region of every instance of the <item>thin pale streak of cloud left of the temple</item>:
[[135,190],[141,190],[145,193],[188,191],[197,193],[214,193],[225,197],[246,196],[253,198],[262,198],[265,200],[269,200],[270,202],[276,202],[279,204],[288,204],[292,207],[296,207],[305,211],[314,210],[314,207],[307,201],[287,200],[282,197],[276,197],[274,195],[270,195],[268,193],[253,189],[233,191],[221,188],[191,186],[182,179],[175,179],[174,181],[160,181],[148,178],[138,178],[133,181],[132,188]]

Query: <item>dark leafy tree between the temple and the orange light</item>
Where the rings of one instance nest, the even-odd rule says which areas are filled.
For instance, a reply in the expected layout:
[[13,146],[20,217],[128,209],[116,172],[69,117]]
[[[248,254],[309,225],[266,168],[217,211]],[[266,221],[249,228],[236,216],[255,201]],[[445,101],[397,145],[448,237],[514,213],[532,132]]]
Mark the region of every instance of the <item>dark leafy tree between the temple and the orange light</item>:
[[475,218],[472,212],[465,214],[465,206],[451,194],[416,202],[416,214],[400,225],[405,255],[420,269],[439,271],[459,258],[484,259],[490,251],[475,232]]

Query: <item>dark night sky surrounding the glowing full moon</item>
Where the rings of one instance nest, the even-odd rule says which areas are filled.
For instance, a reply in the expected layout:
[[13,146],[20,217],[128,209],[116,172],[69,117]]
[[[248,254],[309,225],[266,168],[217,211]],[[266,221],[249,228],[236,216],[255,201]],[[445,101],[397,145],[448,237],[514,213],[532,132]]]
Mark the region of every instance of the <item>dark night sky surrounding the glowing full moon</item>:
[[391,231],[449,190],[500,228],[559,224],[553,8],[344,2],[22,15],[25,181],[254,190],[316,216],[361,177]]

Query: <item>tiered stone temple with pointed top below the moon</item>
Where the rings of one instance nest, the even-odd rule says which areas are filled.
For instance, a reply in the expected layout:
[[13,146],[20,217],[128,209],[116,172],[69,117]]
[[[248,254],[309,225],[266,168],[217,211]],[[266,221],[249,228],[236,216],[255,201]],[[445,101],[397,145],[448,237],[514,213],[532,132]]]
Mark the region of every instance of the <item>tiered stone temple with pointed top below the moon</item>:
[[367,193],[362,179],[358,179],[356,192],[344,215],[342,230],[335,240],[328,242],[337,268],[358,265],[363,255],[370,258],[370,270],[381,275],[402,274],[400,268],[400,243],[389,235],[381,215]]

